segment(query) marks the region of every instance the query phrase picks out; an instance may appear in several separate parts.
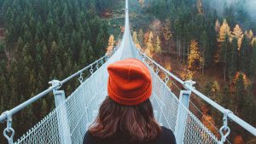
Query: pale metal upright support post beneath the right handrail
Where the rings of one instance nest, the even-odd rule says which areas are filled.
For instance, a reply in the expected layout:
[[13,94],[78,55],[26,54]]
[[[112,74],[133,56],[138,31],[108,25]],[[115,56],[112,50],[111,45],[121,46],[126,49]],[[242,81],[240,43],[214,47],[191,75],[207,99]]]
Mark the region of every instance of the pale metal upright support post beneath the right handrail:
[[181,90],[179,95],[179,104],[177,109],[177,119],[175,125],[175,136],[177,144],[182,144],[185,135],[185,128],[187,123],[188,112],[186,108],[189,108],[189,98],[191,90]]

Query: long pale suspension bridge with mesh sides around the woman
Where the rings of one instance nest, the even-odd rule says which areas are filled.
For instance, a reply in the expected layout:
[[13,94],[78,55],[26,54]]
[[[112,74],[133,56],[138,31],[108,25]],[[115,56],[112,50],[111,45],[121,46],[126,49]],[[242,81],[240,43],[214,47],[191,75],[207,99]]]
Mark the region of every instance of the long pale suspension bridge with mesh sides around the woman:
[[[107,82],[109,64],[126,58],[142,60],[148,66],[153,79],[153,94],[150,98],[154,107],[154,116],[157,121],[171,129],[176,136],[177,144],[206,143],[222,144],[230,143],[227,137],[230,135],[229,120],[239,124],[241,128],[256,136],[256,129],[238,118],[230,110],[218,105],[206,95],[193,87],[195,82],[183,81],[177,78],[172,72],[167,71],[163,66],[149,58],[142,51],[136,48],[131,38],[129,24],[128,0],[125,0],[125,33],[121,43],[112,52],[104,55],[101,59],[91,63],[79,72],[59,81],[52,80],[51,86],[30,100],[21,103],[19,106],[3,112],[0,115],[0,122],[6,122],[6,129],[3,135],[9,144],[79,144],[90,124],[97,116],[98,109],[108,94]],[[88,78],[83,78],[83,73],[89,72]],[[61,86],[73,78],[79,78],[80,85],[69,96]],[[178,89],[179,95],[175,95],[169,83],[180,84],[183,89]],[[55,109],[43,118],[38,124],[14,140],[15,130],[12,128],[12,116],[22,111],[33,102],[42,99],[49,93],[55,95]],[[191,94],[196,95],[202,101],[207,102],[219,112],[223,113],[223,126],[218,130],[220,138],[213,135],[201,120],[189,111],[189,98]]]

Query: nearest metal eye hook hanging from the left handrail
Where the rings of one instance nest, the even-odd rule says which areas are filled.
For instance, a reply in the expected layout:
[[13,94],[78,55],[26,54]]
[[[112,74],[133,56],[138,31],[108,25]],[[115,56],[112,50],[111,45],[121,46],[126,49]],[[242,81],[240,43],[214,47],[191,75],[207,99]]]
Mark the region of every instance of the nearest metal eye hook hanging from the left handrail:
[[14,143],[15,130],[12,128],[12,115],[9,111],[3,112],[7,116],[6,128],[3,130],[3,135],[9,144]]

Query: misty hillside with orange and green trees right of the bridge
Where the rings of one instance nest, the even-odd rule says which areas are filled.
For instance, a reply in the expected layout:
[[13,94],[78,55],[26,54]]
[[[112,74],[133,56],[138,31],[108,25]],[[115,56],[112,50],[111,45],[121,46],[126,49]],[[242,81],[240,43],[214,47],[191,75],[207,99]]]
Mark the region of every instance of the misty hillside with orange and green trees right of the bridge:
[[[229,3],[230,6],[224,6],[223,12],[218,14],[215,8],[210,7],[210,2],[201,0],[189,3],[134,0],[130,3],[131,28],[136,32],[133,38],[143,46],[146,54],[180,78],[192,78],[197,83],[196,89],[229,108],[249,124],[256,124],[253,115],[253,109],[256,108],[256,73],[253,66],[253,57],[256,56],[253,45],[256,39],[253,35],[255,21],[250,20],[244,5],[239,7],[236,6],[239,2]],[[108,31],[116,41],[124,22],[124,15],[120,11],[122,9],[114,9],[108,18],[103,18],[108,21]],[[241,16],[242,22],[239,20]],[[224,28],[230,32],[221,33]],[[232,40],[225,41],[224,37],[232,37]],[[196,46],[193,47],[194,41]],[[252,42],[251,45],[249,42]],[[160,50],[157,49],[159,47]],[[238,50],[235,49],[237,47]],[[239,60],[224,55],[238,55]],[[248,62],[251,62],[249,66]],[[197,107],[190,104],[190,108],[197,113],[197,117],[218,135],[212,124],[219,129],[222,115],[195,96],[192,96],[192,102]],[[236,143],[240,136],[240,143],[253,141],[252,135],[241,130],[238,125],[231,125],[231,130],[235,131],[230,136],[231,142]]]

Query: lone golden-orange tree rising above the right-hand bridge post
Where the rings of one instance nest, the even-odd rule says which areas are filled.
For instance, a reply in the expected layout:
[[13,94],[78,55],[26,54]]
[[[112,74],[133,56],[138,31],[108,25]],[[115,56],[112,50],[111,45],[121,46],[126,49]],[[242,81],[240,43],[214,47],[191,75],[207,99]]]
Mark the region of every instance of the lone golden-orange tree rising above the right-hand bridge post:
[[200,52],[198,48],[198,43],[195,40],[192,40],[190,43],[189,51],[189,69],[197,66],[200,62]]

